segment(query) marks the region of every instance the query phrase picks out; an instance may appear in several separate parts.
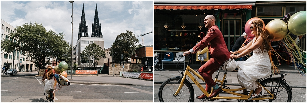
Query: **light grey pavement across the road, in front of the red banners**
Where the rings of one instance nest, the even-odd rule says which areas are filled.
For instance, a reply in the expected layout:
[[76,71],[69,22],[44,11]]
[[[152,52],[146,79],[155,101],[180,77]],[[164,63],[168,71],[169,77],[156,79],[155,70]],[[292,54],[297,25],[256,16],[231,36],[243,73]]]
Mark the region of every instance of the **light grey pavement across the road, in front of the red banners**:
[[[25,75],[25,74],[36,74],[36,77],[40,80],[42,77],[38,75],[38,72],[19,72],[17,75]],[[16,76],[14,75],[3,75],[1,77],[7,76]],[[72,79],[70,79],[70,75],[67,76],[67,79],[71,83],[76,84],[110,84],[110,85],[152,85],[153,81],[142,80],[142,79],[133,79],[120,77],[119,75],[108,75],[108,74],[98,74],[98,75],[72,75]]]

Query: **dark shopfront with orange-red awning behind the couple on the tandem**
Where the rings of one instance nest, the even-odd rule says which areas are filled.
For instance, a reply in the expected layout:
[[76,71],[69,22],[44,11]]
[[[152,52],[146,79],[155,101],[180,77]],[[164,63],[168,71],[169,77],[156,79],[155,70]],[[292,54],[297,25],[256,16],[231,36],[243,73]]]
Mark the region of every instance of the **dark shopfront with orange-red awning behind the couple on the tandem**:
[[[162,60],[161,54],[176,54],[194,47],[208,31],[203,23],[207,15],[216,17],[215,24],[231,51],[250,18],[261,18],[266,25],[274,19],[282,20],[287,13],[293,15],[299,11],[306,11],[306,1],[154,1],[154,53],[160,53],[159,60]],[[306,35],[299,42],[302,50],[306,50],[305,41]],[[196,59],[196,54],[192,54],[192,59]],[[192,61],[191,64],[203,62]]]

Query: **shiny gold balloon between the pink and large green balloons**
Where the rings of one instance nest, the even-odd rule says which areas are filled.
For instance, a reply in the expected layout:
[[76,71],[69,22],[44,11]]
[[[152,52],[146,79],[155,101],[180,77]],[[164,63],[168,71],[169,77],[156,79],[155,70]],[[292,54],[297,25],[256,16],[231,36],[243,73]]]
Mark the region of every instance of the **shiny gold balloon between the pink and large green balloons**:
[[280,41],[286,36],[288,27],[284,21],[280,19],[274,19],[266,25],[264,30],[267,34],[269,34],[270,40]]

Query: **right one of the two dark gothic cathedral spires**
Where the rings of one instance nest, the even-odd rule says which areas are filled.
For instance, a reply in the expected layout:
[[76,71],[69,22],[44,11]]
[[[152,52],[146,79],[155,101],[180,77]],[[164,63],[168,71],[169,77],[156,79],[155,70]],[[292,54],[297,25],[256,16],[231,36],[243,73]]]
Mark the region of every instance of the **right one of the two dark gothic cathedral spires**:
[[94,24],[92,24],[91,37],[102,38],[101,24],[99,24],[99,18],[98,18],[97,3],[96,3],[96,10],[95,10]]

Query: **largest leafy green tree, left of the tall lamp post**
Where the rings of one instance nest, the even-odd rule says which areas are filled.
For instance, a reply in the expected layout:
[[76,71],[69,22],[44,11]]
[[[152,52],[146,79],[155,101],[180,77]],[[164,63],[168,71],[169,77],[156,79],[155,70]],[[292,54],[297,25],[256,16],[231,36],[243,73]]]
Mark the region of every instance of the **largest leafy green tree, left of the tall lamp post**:
[[[63,32],[56,34],[52,29],[49,31],[42,24],[25,23],[16,26],[15,33],[10,35],[11,40],[2,40],[1,50],[11,52],[14,49],[22,51],[36,65],[43,69],[46,65],[46,57],[65,57],[69,48],[64,40]],[[16,40],[16,42],[13,42]]]

